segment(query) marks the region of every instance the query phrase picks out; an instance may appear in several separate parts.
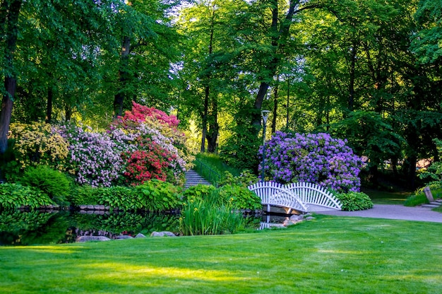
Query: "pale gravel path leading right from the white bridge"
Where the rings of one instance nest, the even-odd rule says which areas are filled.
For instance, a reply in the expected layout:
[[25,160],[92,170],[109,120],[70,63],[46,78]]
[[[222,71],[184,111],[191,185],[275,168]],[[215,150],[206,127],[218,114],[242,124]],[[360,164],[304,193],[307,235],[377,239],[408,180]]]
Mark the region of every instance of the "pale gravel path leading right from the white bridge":
[[329,216],[359,216],[362,218],[389,218],[393,220],[418,220],[442,223],[442,213],[426,207],[407,207],[402,205],[375,204],[366,211],[316,211]]

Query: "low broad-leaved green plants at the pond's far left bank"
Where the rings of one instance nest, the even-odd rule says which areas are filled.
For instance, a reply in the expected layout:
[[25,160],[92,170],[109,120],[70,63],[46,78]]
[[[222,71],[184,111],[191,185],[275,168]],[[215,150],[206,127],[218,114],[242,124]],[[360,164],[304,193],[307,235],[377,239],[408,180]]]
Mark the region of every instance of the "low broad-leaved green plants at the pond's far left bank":
[[29,206],[39,208],[54,204],[47,194],[21,184],[0,184],[0,208],[19,208]]

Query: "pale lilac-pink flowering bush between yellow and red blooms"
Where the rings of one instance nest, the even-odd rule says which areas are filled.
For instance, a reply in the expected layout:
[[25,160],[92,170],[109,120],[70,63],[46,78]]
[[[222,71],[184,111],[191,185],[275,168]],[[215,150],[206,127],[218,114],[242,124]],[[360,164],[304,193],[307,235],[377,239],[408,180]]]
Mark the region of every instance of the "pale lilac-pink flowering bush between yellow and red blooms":
[[64,126],[61,134],[69,142],[69,169],[80,184],[110,187],[123,169],[121,148],[107,133]]

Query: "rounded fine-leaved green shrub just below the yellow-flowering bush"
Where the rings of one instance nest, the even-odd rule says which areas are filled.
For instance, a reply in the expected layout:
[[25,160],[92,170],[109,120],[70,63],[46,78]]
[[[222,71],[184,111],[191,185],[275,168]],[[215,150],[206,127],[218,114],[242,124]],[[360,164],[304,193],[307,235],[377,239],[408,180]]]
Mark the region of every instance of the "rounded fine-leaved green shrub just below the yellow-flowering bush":
[[34,187],[47,194],[57,204],[63,204],[66,201],[70,188],[68,177],[63,172],[53,170],[47,165],[28,167],[20,182],[24,186]]

